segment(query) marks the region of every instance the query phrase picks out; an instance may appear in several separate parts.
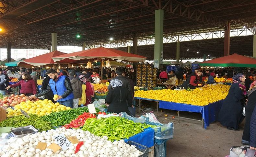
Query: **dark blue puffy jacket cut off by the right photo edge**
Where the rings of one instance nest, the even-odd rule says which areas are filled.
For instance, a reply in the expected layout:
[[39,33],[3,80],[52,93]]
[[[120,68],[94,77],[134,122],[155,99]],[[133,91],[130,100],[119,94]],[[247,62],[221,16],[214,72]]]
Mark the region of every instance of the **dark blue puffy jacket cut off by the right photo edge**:
[[250,122],[250,146],[256,148],[256,107],[251,115]]

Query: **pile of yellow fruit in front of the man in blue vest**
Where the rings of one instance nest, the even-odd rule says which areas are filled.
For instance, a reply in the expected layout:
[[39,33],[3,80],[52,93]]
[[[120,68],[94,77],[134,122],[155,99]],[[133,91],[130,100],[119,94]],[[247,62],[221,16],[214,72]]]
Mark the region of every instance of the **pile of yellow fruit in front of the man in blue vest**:
[[28,114],[36,114],[38,116],[49,115],[51,112],[58,112],[63,110],[70,110],[70,107],[60,105],[60,103],[53,103],[52,100],[44,99],[32,102],[27,100],[26,102],[21,102],[16,105],[14,109],[8,108],[7,117],[22,115],[20,109],[24,110]]

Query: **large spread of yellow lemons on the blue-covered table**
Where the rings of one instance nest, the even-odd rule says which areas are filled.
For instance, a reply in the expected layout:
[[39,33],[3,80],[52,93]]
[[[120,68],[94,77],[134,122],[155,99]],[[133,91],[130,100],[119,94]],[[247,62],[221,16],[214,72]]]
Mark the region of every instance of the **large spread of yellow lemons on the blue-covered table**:
[[228,94],[230,86],[224,84],[210,84],[204,87],[196,88],[192,91],[187,90],[138,90],[134,97],[147,99],[169,101],[196,106],[205,106],[210,103],[223,100]]

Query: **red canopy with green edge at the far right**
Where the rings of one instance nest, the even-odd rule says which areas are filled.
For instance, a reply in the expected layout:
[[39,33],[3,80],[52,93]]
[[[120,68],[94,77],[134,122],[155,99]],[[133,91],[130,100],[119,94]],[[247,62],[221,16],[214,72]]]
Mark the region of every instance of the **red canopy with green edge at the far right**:
[[256,58],[232,54],[199,63],[201,66],[248,67],[256,68]]

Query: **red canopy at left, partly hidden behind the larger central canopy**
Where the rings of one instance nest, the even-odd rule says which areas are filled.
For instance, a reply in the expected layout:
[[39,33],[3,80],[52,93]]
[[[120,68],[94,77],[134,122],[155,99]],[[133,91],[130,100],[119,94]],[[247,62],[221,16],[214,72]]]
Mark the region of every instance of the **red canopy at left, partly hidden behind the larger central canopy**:
[[33,66],[43,66],[47,64],[54,64],[52,57],[63,55],[63,54],[66,54],[66,53],[55,50],[49,53],[45,53],[45,54],[21,61],[18,65],[22,66],[23,63],[33,65]]

